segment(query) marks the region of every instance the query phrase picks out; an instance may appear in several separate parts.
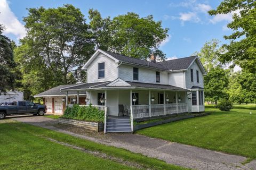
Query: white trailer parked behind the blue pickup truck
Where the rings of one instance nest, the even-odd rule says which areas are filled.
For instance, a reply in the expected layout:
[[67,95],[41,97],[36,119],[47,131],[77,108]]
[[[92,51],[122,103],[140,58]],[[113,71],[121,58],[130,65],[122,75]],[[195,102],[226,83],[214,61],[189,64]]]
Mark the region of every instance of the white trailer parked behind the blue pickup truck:
[[6,91],[0,95],[0,104],[1,103],[11,103],[12,101],[23,100],[23,92],[21,91]]

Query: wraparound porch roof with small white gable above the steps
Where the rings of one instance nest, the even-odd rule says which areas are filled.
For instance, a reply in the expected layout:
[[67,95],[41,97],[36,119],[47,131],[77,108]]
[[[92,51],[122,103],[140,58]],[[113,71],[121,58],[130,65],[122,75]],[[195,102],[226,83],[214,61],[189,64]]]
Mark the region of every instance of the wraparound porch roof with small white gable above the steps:
[[155,84],[155,83],[142,83],[125,81],[125,84],[121,86],[110,86],[114,81],[98,82],[98,83],[84,83],[78,86],[67,87],[60,89],[61,91],[79,91],[79,90],[93,90],[93,89],[158,89],[158,90],[174,90],[174,91],[190,91],[190,89],[184,89],[167,84]]

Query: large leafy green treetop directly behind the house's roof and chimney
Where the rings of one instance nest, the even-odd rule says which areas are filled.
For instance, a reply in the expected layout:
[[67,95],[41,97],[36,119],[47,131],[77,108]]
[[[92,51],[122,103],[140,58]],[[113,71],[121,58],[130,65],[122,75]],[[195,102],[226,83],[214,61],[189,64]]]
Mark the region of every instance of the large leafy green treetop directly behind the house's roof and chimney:
[[140,18],[138,14],[127,13],[111,20],[102,19],[97,10],[90,10],[89,14],[97,47],[144,60],[151,53],[165,59],[159,46],[167,38],[168,29],[162,28],[162,22],[154,21],[152,15]]

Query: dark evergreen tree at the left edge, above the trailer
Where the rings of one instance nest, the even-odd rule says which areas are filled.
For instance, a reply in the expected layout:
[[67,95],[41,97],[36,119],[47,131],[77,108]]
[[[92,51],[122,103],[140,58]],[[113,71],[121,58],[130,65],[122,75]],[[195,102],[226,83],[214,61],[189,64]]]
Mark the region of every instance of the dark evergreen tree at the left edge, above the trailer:
[[0,24],[0,95],[6,89],[14,88],[15,79],[12,72],[15,67],[12,41],[2,34],[3,29],[3,26]]

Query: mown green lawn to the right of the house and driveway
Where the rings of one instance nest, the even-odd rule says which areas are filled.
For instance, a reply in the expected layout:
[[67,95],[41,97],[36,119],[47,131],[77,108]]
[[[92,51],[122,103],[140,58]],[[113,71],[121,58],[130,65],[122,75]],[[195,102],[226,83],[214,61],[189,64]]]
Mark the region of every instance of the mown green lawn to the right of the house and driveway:
[[256,159],[255,105],[235,105],[230,112],[206,106],[205,112],[209,111],[213,114],[162,124],[137,133]]

